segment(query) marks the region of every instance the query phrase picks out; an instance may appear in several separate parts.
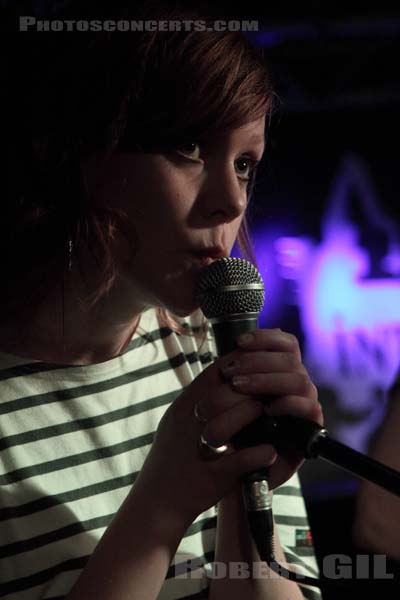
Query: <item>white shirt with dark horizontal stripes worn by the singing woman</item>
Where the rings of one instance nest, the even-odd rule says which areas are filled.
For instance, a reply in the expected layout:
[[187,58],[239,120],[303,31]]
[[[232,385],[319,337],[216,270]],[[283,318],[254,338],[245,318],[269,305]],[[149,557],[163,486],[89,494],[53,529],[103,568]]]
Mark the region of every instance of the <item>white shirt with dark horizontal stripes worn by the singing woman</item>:
[[[195,331],[201,311],[176,318]],[[85,366],[0,353],[0,597],[60,600],[135,482],[165,410],[215,358],[201,340],[142,314],[129,345]],[[297,475],[274,492],[289,563],[317,575]],[[217,508],[179,544],[160,600],[207,598]],[[304,588],[319,598],[316,588]]]

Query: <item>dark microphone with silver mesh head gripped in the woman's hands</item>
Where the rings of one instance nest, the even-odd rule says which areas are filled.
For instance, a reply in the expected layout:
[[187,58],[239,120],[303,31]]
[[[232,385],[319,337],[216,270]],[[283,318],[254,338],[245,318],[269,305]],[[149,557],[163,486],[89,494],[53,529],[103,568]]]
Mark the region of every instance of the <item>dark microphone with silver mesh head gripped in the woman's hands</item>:
[[[196,299],[211,322],[218,356],[237,348],[242,333],[257,329],[264,305],[264,283],[258,270],[240,258],[222,258],[202,269]],[[256,429],[259,429],[258,435]],[[262,435],[262,423],[250,424],[232,438],[236,449],[255,445]],[[265,442],[265,439],[262,440]],[[260,442],[259,442],[260,443]],[[272,492],[268,468],[242,478],[243,498],[251,534],[263,560],[274,560]]]

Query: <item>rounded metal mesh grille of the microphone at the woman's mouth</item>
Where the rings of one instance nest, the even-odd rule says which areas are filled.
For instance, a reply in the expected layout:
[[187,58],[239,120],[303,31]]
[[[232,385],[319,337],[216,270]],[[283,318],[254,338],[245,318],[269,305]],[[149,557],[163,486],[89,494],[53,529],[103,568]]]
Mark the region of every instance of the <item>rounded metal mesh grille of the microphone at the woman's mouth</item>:
[[196,287],[196,300],[208,319],[259,313],[264,297],[260,273],[243,258],[221,258],[204,267]]

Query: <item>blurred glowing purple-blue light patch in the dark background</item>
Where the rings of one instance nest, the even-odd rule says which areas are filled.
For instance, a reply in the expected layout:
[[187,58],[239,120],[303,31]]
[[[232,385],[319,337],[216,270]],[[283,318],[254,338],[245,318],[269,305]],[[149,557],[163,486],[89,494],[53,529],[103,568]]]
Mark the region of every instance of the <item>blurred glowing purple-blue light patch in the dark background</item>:
[[[380,277],[371,276],[374,248],[361,246],[359,224],[350,220],[355,198],[387,238]],[[328,429],[365,451],[399,368],[398,225],[380,209],[365,165],[349,155],[332,182],[319,240],[284,235],[271,223],[258,223],[253,239],[266,287],[260,325],[288,329],[285,306],[296,307],[293,333],[301,334],[304,362],[317,386],[330,391],[329,402],[321,397]]]

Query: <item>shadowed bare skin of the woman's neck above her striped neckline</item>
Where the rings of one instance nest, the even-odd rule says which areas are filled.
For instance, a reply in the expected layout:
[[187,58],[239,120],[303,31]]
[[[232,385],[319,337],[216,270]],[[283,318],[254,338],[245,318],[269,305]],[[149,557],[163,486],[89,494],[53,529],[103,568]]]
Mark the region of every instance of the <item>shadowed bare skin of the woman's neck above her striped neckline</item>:
[[[107,298],[86,309],[79,295],[58,289],[35,311],[29,323],[0,324],[0,350],[42,362],[89,365],[119,356],[136,331],[140,315],[133,290],[119,282]],[[75,289],[75,288],[74,288]]]

